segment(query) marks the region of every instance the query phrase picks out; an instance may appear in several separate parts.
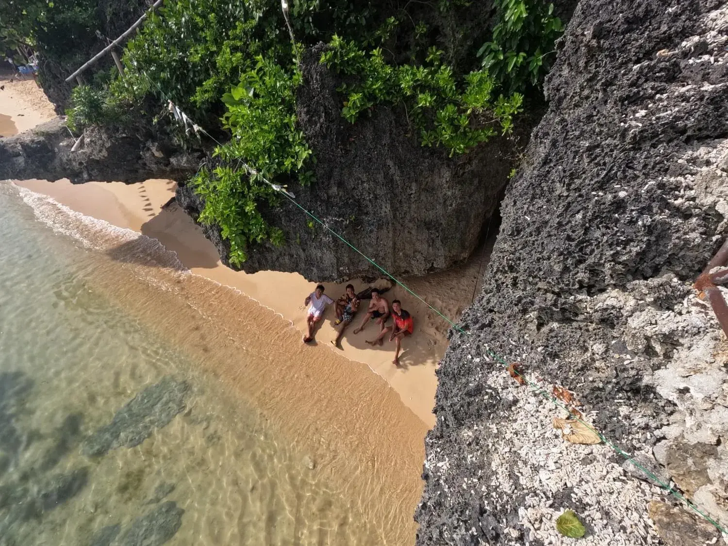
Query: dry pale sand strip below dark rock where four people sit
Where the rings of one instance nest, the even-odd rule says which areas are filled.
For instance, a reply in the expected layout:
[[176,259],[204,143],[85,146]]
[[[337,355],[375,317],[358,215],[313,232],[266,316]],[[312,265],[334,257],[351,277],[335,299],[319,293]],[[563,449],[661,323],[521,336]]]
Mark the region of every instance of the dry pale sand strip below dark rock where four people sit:
[[[307,282],[299,274],[270,271],[246,274],[223,266],[213,244],[205,239],[202,230],[188,215],[175,204],[162,209],[162,205],[174,195],[173,181],[149,180],[129,185],[116,182],[74,185],[68,181],[23,181],[18,184],[48,195],[79,213],[159,240],[165,248],[177,253],[181,263],[192,273],[240,290],[289,320],[301,333],[304,331],[304,298],[314,290],[315,283]],[[483,252],[488,250],[483,249],[480,256],[475,256],[465,266],[403,281],[446,317],[456,320],[464,307],[470,304],[483,263]],[[333,298],[344,292],[344,285],[324,284],[326,293]],[[366,286],[358,280],[352,280],[352,284],[357,290]],[[378,285],[387,286],[387,282],[380,281]],[[369,323],[363,332],[353,333],[362,314],[355,317],[353,325],[344,334],[342,350],[334,348],[331,343],[336,331],[333,328],[333,309],[329,308],[314,344],[368,365],[387,380],[408,408],[432,427],[435,423],[432,407],[437,388],[435,369],[445,352],[450,325],[401,287],[389,290],[386,297],[390,301],[399,298],[403,308],[414,315],[415,332],[403,342],[400,366],[392,364],[394,344],[385,341],[383,347],[371,347],[365,343],[378,333],[373,323]],[[274,335],[262,329],[261,333],[266,338],[269,334]],[[301,344],[301,339],[296,343]]]

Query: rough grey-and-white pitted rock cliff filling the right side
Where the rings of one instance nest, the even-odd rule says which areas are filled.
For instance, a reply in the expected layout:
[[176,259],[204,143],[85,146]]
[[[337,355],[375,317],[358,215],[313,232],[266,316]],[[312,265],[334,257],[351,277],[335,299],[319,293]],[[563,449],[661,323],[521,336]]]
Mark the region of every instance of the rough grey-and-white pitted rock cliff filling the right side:
[[728,526],[728,344],[692,288],[728,234],[727,36],[724,1],[579,2],[438,371],[418,546],[561,544],[565,509],[588,544],[718,539],[488,351]]

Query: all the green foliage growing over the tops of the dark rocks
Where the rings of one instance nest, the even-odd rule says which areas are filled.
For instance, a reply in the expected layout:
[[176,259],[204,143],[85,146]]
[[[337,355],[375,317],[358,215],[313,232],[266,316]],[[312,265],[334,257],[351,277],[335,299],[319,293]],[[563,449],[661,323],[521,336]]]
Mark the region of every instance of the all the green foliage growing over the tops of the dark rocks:
[[[19,0],[7,1],[15,11],[6,11],[25,25],[28,8],[18,12]],[[69,41],[95,39],[95,2],[66,0],[60,9],[28,0],[29,9],[40,10],[39,23],[23,32],[49,51],[73,50]],[[470,14],[490,17],[489,5],[288,0],[292,43],[277,1],[167,0],[127,43],[124,79],[79,87],[69,118],[76,127],[106,123],[118,119],[119,105],[153,97],[172,100],[223,138],[193,185],[205,202],[200,221],[220,227],[232,263],[240,265],[250,245],[282,242],[281,230],[261,213],[280,201],[269,183],[313,178],[315,158],[296,121],[301,50],[330,45],[321,62],[341,76],[341,115],[349,122],[397,106],[423,146],[463,154],[510,130],[561,31],[550,4],[494,0],[492,32],[481,25],[473,33]],[[0,9],[0,28],[5,13]]]

